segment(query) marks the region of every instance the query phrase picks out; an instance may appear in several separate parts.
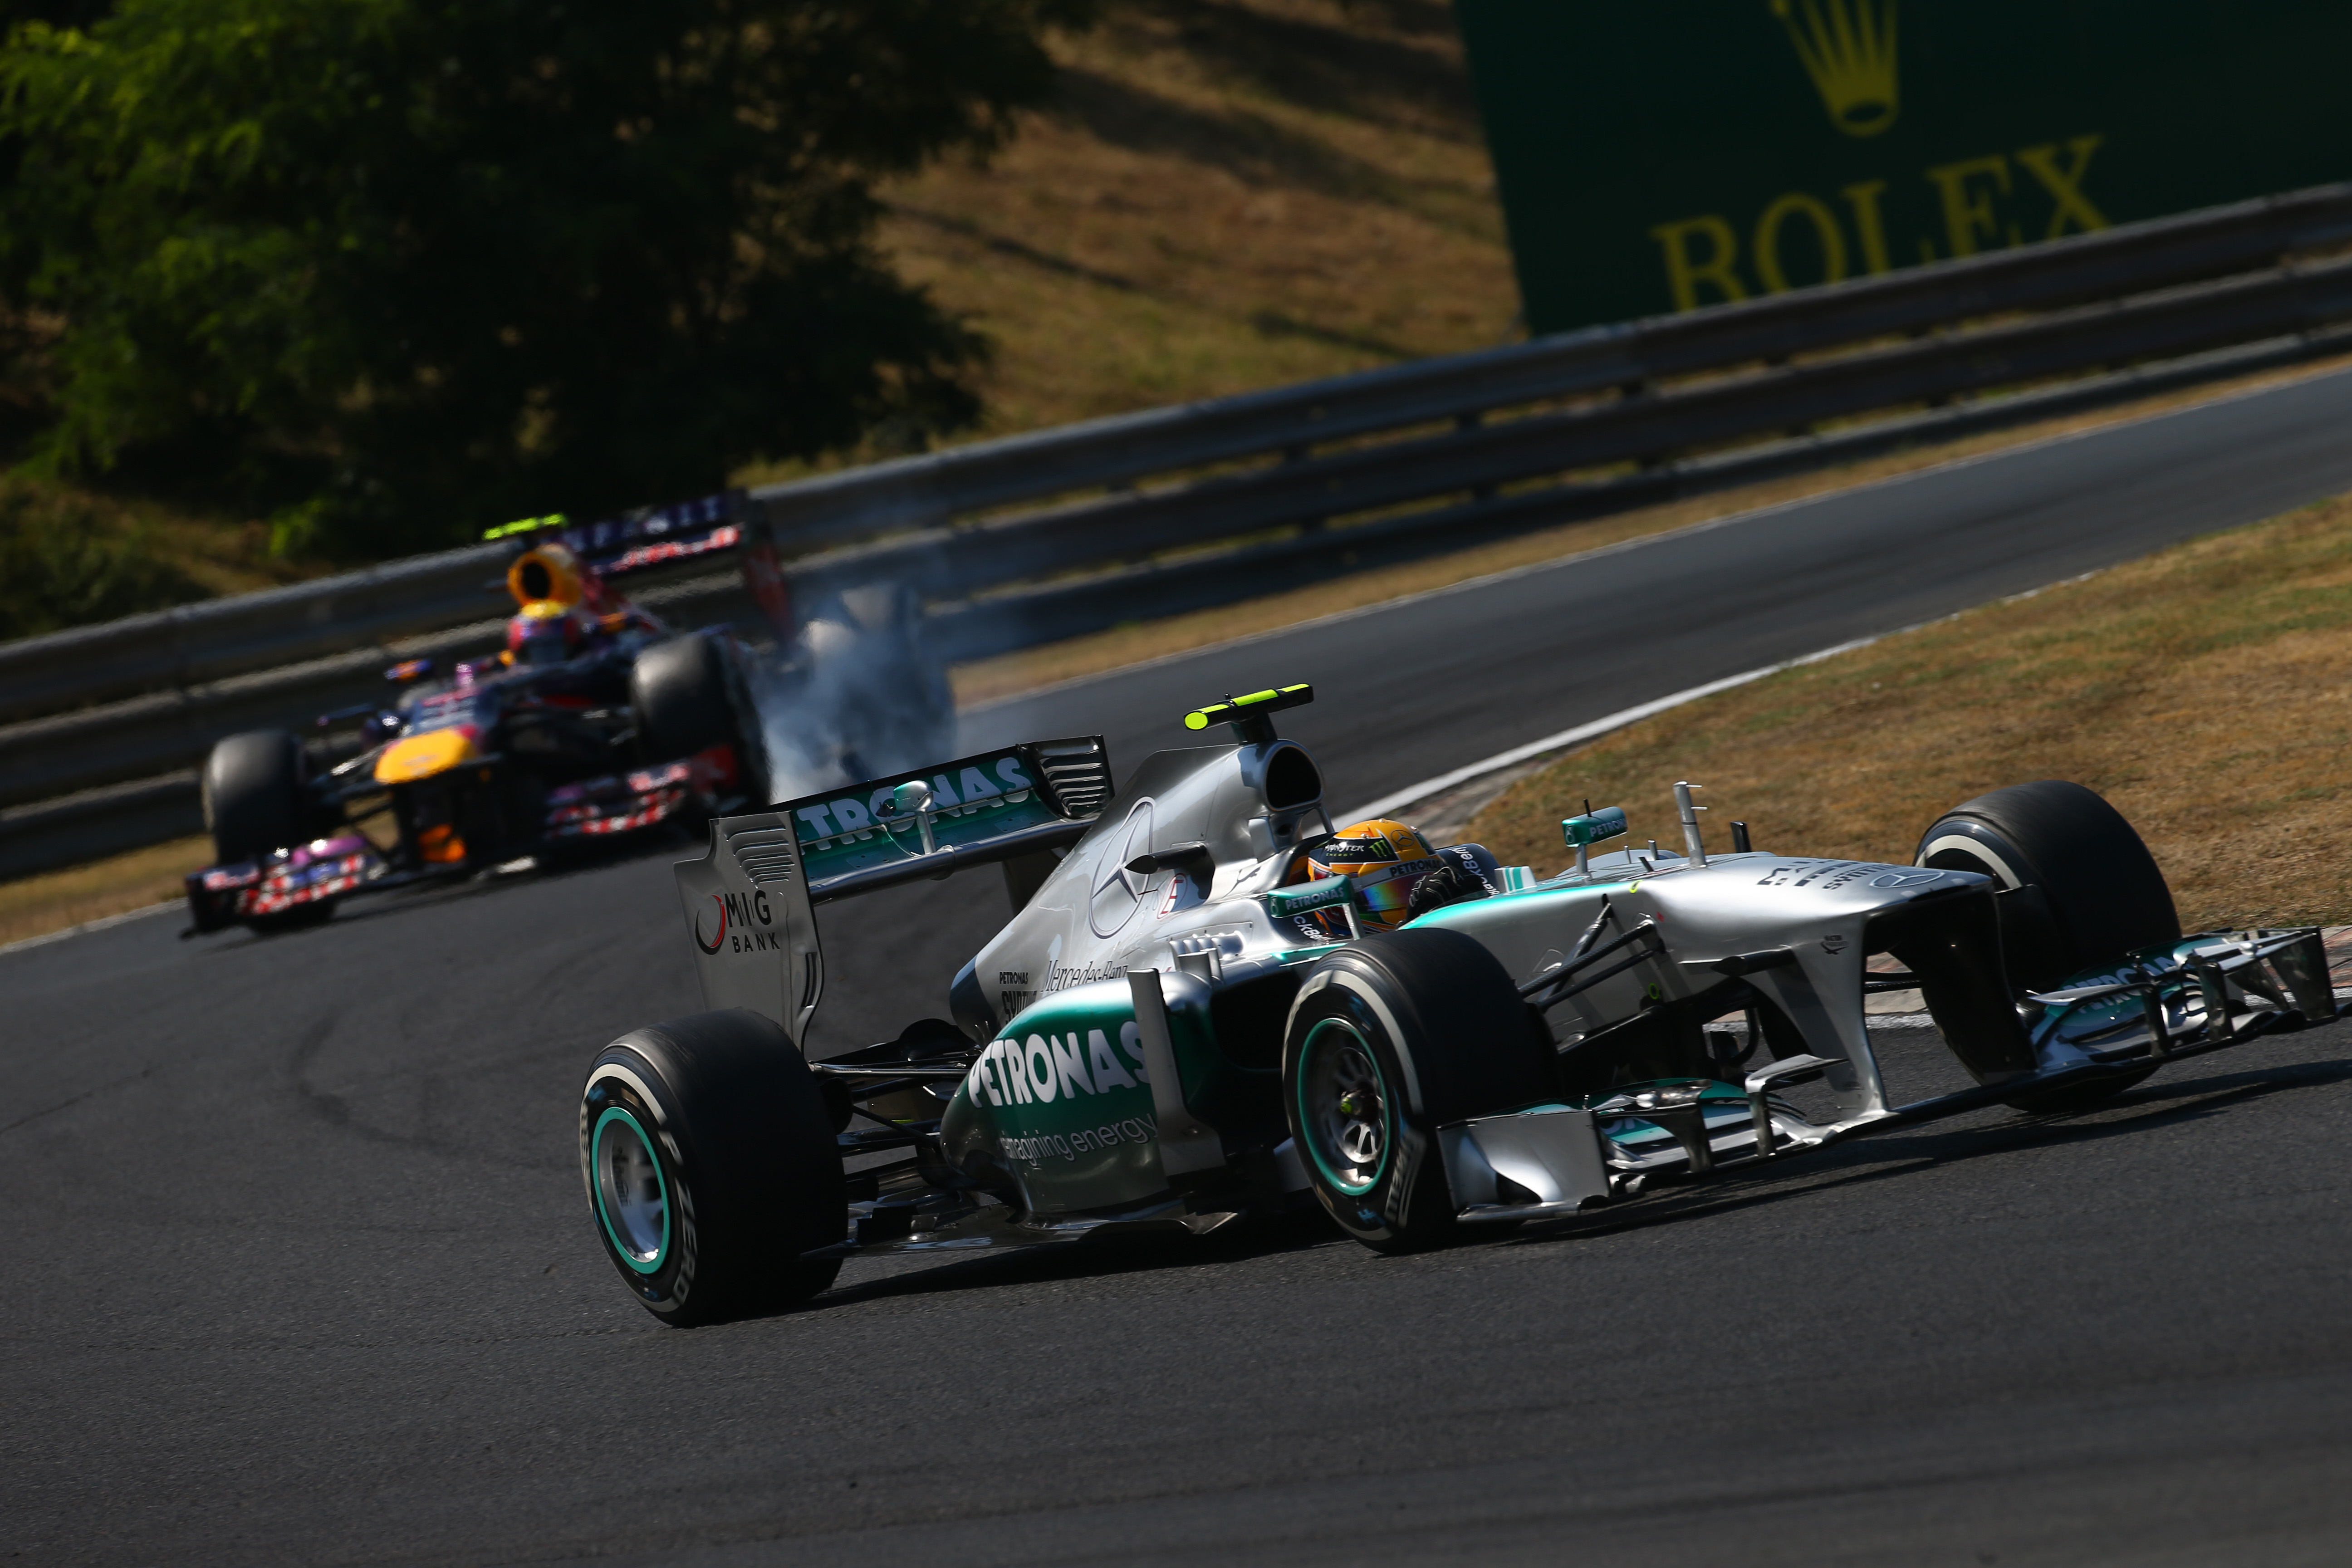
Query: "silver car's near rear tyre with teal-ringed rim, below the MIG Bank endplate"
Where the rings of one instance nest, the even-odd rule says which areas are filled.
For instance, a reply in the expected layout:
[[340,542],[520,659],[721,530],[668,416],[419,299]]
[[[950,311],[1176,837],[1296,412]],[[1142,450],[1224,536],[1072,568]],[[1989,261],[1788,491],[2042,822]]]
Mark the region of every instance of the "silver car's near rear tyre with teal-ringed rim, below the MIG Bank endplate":
[[842,1159],[816,1074],[743,1009],[633,1030],[581,1091],[581,1178],[597,1241],[663,1324],[797,1307],[840,1260]]

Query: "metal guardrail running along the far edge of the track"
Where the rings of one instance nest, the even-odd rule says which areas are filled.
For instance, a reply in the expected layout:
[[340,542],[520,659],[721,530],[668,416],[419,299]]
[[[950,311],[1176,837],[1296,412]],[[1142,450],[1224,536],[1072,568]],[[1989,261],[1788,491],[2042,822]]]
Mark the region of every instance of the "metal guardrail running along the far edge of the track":
[[[915,583],[941,649],[971,658],[2345,350],[2347,247],[2352,186],[2326,186],[774,484],[741,522],[795,595]],[[193,832],[186,769],[216,736],[365,701],[390,658],[489,646],[517,548],[0,644],[0,875],[99,853],[66,825],[125,790],[153,797],[139,835]],[[753,621],[710,567],[642,597]]]

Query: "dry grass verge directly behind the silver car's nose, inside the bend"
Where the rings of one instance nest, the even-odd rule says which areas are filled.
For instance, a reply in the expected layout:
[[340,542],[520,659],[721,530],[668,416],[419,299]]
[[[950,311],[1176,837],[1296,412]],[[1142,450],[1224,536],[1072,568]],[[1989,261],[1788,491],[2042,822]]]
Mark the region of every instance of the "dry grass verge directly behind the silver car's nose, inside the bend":
[[1472,823],[1505,860],[1566,863],[1559,818],[1621,804],[1679,844],[1910,860],[1971,795],[2072,778],[2147,839],[2190,929],[2352,919],[2352,498],[2216,534],[1726,691],[1517,783]]

